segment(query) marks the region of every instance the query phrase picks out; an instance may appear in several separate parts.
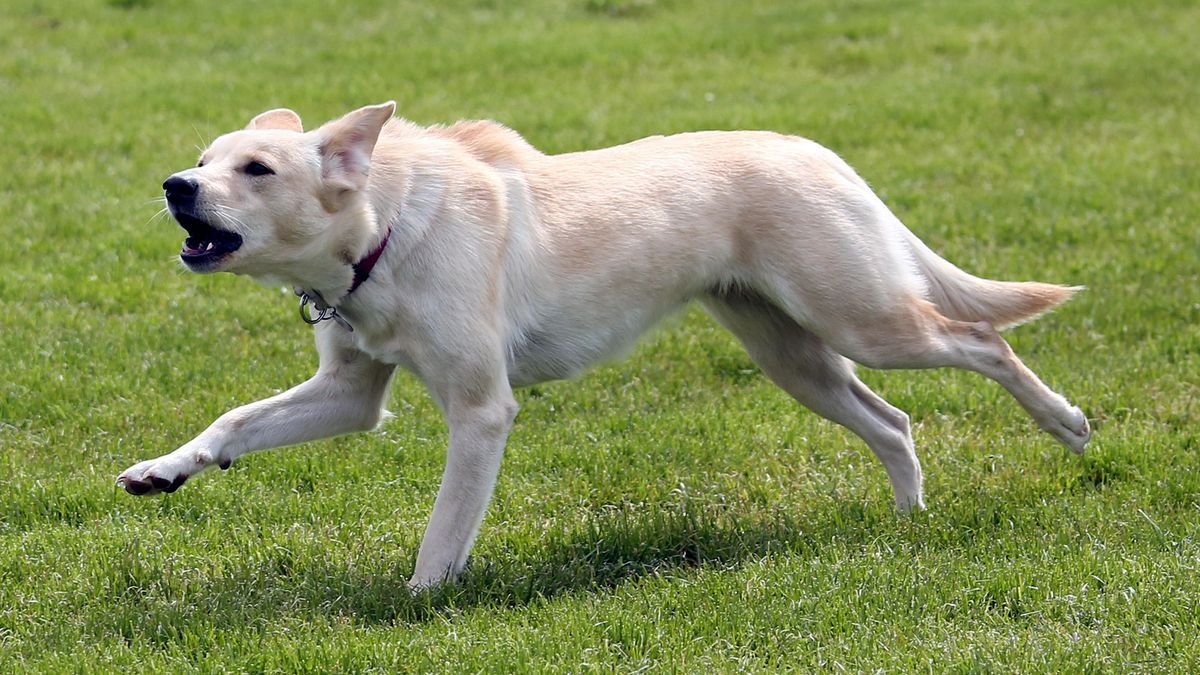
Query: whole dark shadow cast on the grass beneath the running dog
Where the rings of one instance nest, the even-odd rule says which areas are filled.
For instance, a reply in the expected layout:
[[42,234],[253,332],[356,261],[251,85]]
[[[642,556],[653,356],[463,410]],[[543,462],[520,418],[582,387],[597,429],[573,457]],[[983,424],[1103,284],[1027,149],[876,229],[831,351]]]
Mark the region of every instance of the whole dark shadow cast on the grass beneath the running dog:
[[400,551],[374,551],[334,562],[322,557],[322,542],[304,551],[277,546],[182,591],[178,584],[160,585],[169,569],[126,569],[124,587],[113,589],[112,611],[90,622],[86,632],[169,647],[295,620],[416,625],[476,608],[517,608],[602,592],[654,575],[733,569],[776,555],[818,558],[834,549],[838,556],[874,555],[876,549],[914,555],[995,539],[1012,513],[1003,501],[974,497],[968,500],[972,508],[937,519],[925,513],[900,516],[889,503],[834,500],[821,500],[799,514],[686,501],[608,507],[547,532],[533,545],[474,558],[457,584],[416,596],[406,585],[415,550],[403,551],[401,560],[394,555]]

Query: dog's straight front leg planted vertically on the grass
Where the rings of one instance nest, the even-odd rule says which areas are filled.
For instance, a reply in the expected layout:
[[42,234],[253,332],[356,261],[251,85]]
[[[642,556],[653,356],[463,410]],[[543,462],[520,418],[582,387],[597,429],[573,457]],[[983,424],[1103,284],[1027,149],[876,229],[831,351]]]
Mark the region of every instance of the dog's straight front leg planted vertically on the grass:
[[439,396],[450,425],[450,447],[442,488],[409,581],[413,590],[452,580],[467,562],[484,520],[517,413],[506,378],[494,382],[488,394],[449,392]]

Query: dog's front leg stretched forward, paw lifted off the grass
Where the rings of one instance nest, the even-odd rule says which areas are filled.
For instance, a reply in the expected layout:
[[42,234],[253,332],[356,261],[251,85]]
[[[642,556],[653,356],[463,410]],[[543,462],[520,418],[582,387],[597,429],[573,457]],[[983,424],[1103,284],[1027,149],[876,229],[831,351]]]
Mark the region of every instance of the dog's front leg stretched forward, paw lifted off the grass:
[[175,452],[125,470],[116,483],[133,495],[174,492],[200,471],[228,468],[247,453],[373,429],[395,366],[358,351],[332,324],[317,329],[317,348],[320,366],[312,378],[222,414]]

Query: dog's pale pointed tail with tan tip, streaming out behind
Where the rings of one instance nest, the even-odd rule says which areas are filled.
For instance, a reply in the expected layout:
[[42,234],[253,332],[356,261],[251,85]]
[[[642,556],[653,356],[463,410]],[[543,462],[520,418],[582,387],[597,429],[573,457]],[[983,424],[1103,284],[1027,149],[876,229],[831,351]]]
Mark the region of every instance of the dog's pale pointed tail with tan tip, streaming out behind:
[[918,269],[929,282],[929,299],[953,319],[986,321],[997,329],[1008,328],[1042,316],[1084,288],[979,279],[935,253],[912,232],[905,232]]

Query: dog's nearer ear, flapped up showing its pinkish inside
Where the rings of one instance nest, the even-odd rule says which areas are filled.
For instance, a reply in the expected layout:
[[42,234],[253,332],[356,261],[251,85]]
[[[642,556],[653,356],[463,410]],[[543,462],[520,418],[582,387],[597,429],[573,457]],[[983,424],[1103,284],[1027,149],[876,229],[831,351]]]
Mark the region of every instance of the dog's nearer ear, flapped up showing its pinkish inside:
[[396,112],[396,102],[359,108],[317,130],[320,175],[332,190],[362,190],[379,131]]

